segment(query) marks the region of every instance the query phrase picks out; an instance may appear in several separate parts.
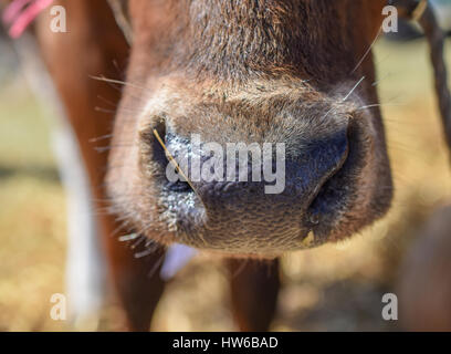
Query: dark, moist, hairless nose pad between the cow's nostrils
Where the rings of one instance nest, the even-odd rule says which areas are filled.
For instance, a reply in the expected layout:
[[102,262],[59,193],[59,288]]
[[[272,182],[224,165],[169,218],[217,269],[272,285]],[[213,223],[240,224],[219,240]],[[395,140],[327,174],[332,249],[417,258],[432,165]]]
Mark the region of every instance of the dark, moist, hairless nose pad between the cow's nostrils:
[[167,142],[188,178],[188,183],[170,183],[172,191],[195,191],[201,201],[197,208],[204,209],[211,225],[255,222],[260,227],[253,229],[261,232],[272,225],[300,225],[321,187],[348,154],[346,127],[308,140],[300,138],[298,145],[261,143],[250,148],[248,142],[237,148],[240,143],[217,144],[222,150],[214,149],[216,154],[207,153],[204,143],[195,148],[192,139],[170,135]]

